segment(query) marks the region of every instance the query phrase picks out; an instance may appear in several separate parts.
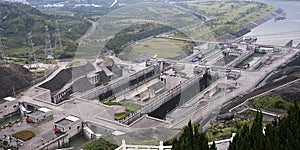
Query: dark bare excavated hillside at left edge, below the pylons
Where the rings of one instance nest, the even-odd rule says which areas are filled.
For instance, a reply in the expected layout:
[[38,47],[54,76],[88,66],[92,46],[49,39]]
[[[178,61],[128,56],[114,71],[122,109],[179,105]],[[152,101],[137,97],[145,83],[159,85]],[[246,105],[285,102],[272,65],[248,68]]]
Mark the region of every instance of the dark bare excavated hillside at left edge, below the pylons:
[[0,98],[12,96],[31,85],[33,74],[26,68],[9,64],[0,67]]

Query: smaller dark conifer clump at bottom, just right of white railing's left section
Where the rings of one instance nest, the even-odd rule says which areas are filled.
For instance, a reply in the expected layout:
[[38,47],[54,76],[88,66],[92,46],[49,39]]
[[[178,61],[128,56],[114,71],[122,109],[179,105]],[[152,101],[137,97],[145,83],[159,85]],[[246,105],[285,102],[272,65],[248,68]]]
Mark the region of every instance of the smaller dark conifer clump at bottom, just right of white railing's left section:
[[208,146],[205,133],[200,133],[199,125],[192,125],[191,121],[183,128],[178,138],[172,140],[172,150],[216,150],[216,145]]

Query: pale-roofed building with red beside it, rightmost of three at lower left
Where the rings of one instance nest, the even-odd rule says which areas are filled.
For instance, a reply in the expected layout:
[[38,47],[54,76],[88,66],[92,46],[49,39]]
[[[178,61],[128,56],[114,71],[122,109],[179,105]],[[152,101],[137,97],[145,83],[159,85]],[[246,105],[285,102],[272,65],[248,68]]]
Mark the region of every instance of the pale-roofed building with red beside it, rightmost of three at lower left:
[[68,116],[55,122],[55,133],[67,133],[69,138],[74,137],[82,130],[82,121],[75,116]]

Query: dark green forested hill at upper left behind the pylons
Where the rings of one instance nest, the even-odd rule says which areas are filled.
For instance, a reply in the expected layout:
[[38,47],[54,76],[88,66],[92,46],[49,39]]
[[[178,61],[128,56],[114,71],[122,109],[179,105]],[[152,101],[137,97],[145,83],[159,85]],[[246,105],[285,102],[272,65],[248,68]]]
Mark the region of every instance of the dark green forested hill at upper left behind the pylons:
[[[76,40],[90,27],[84,19],[71,16],[52,16],[41,13],[38,9],[21,3],[0,3],[0,34],[5,37],[6,54],[24,57],[28,52],[27,33],[32,32],[37,53],[42,54],[45,40],[45,26],[48,25],[52,45],[54,45],[55,21],[58,21],[64,53],[76,50]],[[62,51],[56,51],[57,55]],[[38,54],[39,55],[39,54]]]

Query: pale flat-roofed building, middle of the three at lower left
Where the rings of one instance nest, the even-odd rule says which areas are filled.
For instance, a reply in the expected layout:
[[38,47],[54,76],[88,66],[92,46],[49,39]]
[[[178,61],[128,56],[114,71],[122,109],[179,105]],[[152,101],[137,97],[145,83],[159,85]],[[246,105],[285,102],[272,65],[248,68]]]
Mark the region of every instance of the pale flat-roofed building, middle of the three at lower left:
[[27,114],[26,116],[27,116],[27,118],[26,118],[27,122],[36,123],[36,122],[40,122],[40,121],[52,118],[53,112],[51,109],[42,107],[42,108],[39,108],[37,111]]

